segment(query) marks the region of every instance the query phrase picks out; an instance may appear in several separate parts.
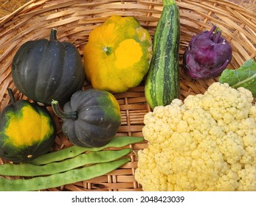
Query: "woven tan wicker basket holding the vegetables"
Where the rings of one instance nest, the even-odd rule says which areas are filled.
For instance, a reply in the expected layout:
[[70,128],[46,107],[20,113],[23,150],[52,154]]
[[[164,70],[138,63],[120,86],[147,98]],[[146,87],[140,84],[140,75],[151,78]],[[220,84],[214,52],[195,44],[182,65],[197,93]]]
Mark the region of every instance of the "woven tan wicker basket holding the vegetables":
[[[229,68],[238,68],[245,60],[256,57],[256,14],[232,4],[217,0],[177,0],[181,18],[180,68],[181,99],[189,94],[204,93],[218,79],[193,80],[182,70],[181,57],[190,38],[198,32],[209,30],[213,24],[223,30],[224,37],[232,44],[233,57]],[[48,38],[49,29],[58,29],[58,40],[72,42],[83,55],[83,46],[89,33],[102,24],[110,15],[134,15],[152,37],[162,12],[162,1],[158,0],[32,0],[10,15],[0,19],[0,111],[10,102],[7,88],[12,88],[15,97],[27,99],[13,84],[11,63],[15,51],[27,40]],[[84,89],[90,85],[85,83]],[[143,82],[125,93],[114,94],[120,103],[122,124],[117,135],[142,136],[143,117],[150,111],[145,101]],[[51,111],[51,108],[49,108]],[[52,113],[53,116],[53,113]],[[72,143],[61,132],[59,118],[54,116],[58,136],[52,150],[71,146]],[[136,152],[146,142],[130,147]],[[109,174],[88,181],[63,185],[47,191],[142,191],[134,179],[137,157],[129,154],[131,162]],[[0,164],[6,163],[0,159]],[[15,177],[20,178],[20,177]]]

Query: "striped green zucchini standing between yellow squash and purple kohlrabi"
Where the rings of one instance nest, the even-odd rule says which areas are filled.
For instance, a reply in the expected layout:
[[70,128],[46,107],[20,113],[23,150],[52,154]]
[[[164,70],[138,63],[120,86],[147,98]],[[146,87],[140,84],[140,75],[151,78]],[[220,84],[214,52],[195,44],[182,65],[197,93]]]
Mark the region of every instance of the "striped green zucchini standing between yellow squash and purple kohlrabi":
[[179,98],[179,9],[175,0],[164,0],[163,5],[145,81],[145,97],[152,109]]

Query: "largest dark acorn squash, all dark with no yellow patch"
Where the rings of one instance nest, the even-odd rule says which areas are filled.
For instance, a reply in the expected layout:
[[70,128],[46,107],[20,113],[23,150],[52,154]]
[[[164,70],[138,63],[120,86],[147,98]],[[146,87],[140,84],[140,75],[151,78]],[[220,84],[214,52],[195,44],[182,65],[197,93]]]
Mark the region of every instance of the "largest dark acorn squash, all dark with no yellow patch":
[[24,43],[13,58],[13,82],[35,102],[50,105],[52,99],[65,104],[83,87],[85,73],[80,53],[69,42],[56,40],[56,29],[49,40]]

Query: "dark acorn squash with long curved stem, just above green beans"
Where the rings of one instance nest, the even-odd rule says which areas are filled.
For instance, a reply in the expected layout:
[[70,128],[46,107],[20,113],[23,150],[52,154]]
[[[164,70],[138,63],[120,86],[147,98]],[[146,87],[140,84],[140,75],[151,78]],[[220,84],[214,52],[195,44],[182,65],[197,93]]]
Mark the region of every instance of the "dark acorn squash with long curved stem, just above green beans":
[[114,138],[121,124],[120,105],[105,90],[78,90],[63,110],[55,100],[52,108],[63,119],[63,133],[76,146],[104,146]]

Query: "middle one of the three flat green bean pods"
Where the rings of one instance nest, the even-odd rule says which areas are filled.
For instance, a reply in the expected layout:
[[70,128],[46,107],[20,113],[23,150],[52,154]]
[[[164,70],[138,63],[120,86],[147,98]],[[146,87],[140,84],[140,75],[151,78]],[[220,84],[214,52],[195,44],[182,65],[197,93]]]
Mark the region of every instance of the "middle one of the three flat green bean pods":
[[43,166],[36,166],[30,163],[7,163],[0,166],[0,175],[35,177],[41,175],[56,174],[89,164],[111,162],[125,156],[130,152],[131,149],[89,152],[77,155],[74,158],[69,158],[60,162],[49,163]]

